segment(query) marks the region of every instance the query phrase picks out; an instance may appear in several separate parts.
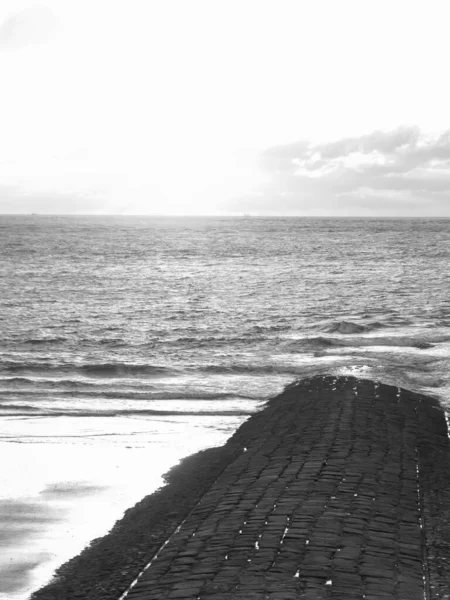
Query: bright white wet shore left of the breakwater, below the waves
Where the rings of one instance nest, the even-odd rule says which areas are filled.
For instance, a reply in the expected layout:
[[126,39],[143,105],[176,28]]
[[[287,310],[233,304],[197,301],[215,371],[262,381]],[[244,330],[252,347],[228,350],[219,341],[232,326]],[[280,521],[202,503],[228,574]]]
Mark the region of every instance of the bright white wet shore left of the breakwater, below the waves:
[[[27,427],[10,417],[9,435],[0,442],[9,458],[0,489],[10,494],[0,497],[0,600],[28,598],[55,568],[160,487],[172,465],[222,444],[244,419],[222,417],[216,428],[217,417],[97,418],[88,432],[84,418],[59,417],[55,431],[54,418],[30,419]],[[20,443],[18,426],[28,430]]]

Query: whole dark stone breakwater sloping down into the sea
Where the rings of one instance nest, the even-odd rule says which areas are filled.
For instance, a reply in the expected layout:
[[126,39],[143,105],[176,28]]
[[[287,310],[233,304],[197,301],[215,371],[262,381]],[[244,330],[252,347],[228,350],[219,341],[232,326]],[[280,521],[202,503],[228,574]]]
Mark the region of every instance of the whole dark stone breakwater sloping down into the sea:
[[436,400],[302,380],[168,481],[33,600],[450,594],[450,449]]

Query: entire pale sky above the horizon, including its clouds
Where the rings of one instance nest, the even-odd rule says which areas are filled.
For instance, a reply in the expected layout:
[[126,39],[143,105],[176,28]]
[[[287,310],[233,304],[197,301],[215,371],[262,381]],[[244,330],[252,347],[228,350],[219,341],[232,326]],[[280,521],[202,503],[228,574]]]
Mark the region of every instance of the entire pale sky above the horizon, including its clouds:
[[0,0],[0,213],[450,216],[449,17]]

